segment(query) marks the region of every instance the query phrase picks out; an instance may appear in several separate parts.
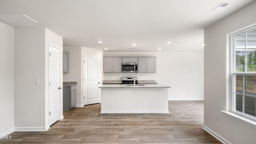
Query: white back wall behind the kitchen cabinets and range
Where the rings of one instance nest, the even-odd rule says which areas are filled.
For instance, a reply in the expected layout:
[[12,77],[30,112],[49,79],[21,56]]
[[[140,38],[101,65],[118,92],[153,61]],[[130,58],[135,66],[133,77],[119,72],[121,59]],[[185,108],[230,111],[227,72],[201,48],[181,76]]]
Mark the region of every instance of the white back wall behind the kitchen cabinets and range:
[[[121,80],[137,76],[138,80],[156,80],[169,88],[169,100],[203,100],[204,52],[104,52],[104,57],[157,57],[156,73],[108,73],[103,80]],[[113,77],[113,79],[112,79]]]

